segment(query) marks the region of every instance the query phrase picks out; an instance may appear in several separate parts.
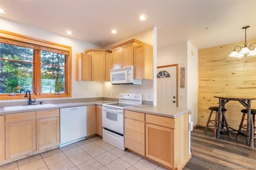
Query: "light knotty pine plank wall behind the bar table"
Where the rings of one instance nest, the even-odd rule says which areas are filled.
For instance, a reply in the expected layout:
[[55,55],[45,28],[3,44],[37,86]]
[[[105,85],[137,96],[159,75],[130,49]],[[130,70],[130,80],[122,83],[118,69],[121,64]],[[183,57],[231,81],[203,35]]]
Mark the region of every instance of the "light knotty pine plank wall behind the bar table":
[[[256,43],[256,39],[247,42],[250,45]],[[234,47],[243,44],[244,42],[237,42],[198,50],[199,126],[206,125],[210,113],[208,107],[218,106],[218,98],[214,96],[256,98],[256,56],[228,57]],[[245,107],[238,101],[230,101],[225,107],[228,124],[238,129],[242,118],[240,110]],[[256,109],[256,100],[252,101],[252,108]],[[214,116],[213,114],[212,119]]]

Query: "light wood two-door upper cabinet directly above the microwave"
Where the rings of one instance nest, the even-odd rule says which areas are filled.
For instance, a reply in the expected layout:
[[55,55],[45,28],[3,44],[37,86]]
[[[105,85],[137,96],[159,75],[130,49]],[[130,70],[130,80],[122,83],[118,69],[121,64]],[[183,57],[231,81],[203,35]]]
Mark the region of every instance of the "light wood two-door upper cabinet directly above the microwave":
[[134,45],[142,43],[135,38],[110,47],[112,49],[113,69],[127,67],[134,64]]

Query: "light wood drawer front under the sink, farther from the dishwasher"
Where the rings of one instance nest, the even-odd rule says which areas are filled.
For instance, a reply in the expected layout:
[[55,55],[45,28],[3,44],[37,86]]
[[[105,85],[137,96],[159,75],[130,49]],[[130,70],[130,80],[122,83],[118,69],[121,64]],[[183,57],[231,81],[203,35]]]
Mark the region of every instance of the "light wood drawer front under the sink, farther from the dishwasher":
[[36,112],[13,113],[5,115],[5,123],[15,123],[36,119]]

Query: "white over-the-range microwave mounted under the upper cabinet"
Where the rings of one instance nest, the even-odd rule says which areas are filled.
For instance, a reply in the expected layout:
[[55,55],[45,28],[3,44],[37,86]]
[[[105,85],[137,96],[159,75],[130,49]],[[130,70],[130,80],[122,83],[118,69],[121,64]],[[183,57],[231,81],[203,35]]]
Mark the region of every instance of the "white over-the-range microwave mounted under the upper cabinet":
[[133,66],[110,70],[110,83],[112,85],[142,85],[142,79],[134,79]]

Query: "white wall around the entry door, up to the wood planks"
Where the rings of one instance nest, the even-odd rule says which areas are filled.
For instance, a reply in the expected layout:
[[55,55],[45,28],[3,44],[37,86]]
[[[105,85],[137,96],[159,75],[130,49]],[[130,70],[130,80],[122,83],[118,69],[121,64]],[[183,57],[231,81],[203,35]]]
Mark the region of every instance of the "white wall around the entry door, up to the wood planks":
[[[194,55],[192,55],[193,51]],[[198,123],[198,49],[190,42],[158,47],[157,66],[178,64],[179,107],[189,108],[194,125]],[[180,88],[180,67],[185,67],[185,88]]]

